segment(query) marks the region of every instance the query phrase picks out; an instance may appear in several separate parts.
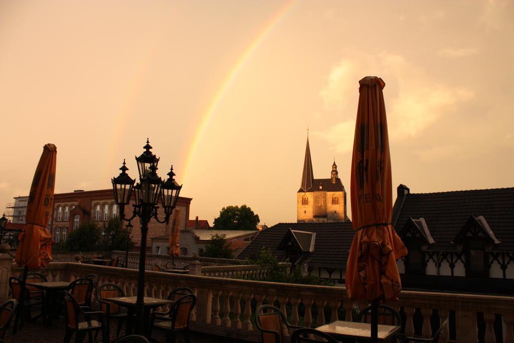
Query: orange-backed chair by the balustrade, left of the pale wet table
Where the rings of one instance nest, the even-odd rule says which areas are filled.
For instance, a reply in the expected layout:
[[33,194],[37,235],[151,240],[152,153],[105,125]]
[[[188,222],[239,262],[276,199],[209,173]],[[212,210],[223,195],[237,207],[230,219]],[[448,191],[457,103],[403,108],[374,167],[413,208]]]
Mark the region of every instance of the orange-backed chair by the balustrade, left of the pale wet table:
[[[272,312],[264,312],[271,310]],[[283,343],[282,328],[302,329],[303,327],[291,325],[286,316],[273,305],[261,305],[255,311],[255,325],[261,331],[261,341],[266,343]]]

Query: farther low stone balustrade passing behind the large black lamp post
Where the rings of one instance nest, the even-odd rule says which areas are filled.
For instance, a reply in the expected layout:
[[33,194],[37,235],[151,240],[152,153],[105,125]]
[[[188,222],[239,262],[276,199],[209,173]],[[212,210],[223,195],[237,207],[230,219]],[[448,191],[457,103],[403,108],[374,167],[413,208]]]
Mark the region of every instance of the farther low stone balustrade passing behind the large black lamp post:
[[[107,253],[108,254],[108,253]],[[125,265],[125,251],[113,251],[111,253],[113,257],[119,258],[120,265]],[[146,254],[145,269],[152,270],[154,264],[164,267],[168,262],[174,262],[178,267],[184,267],[189,265],[195,260],[193,256],[175,256],[172,259],[169,255],[158,255],[158,254]],[[246,264],[246,261],[234,260],[234,259],[214,259],[210,257],[198,257],[203,266],[222,266],[222,265],[242,265]],[[128,252],[128,267],[139,268],[139,252]]]

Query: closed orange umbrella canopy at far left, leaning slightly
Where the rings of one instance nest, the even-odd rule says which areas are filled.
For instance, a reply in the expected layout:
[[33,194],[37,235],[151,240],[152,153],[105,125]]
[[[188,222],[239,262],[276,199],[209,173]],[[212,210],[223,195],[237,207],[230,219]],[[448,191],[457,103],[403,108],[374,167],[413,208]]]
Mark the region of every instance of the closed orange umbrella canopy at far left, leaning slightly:
[[25,229],[18,236],[15,261],[30,269],[46,267],[52,261],[53,239],[46,228],[53,209],[53,188],[56,180],[57,148],[43,147],[29,192]]

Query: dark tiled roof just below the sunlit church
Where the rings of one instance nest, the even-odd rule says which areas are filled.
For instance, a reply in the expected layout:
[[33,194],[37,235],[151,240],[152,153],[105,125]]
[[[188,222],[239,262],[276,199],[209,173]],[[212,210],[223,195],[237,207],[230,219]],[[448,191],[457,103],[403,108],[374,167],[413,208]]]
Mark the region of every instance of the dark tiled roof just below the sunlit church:
[[354,231],[352,222],[338,223],[280,223],[261,231],[257,237],[237,256],[238,259],[255,260],[259,250],[265,246],[280,261],[285,259],[285,252],[278,250],[278,245],[285,234],[292,230],[316,233],[314,252],[310,252],[309,266],[325,268],[346,268],[348,251],[352,245]]

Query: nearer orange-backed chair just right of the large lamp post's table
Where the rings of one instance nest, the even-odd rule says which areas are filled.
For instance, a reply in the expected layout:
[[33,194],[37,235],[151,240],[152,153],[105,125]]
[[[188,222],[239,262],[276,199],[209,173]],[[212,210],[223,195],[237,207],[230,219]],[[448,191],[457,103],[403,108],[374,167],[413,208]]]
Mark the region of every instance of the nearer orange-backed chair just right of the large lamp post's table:
[[172,343],[175,342],[177,332],[181,332],[186,342],[189,343],[189,318],[195,304],[196,297],[194,294],[181,296],[171,304],[167,313],[168,317],[163,318],[162,321],[156,323],[156,316],[152,314],[151,329],[164,330],[166,341]]

